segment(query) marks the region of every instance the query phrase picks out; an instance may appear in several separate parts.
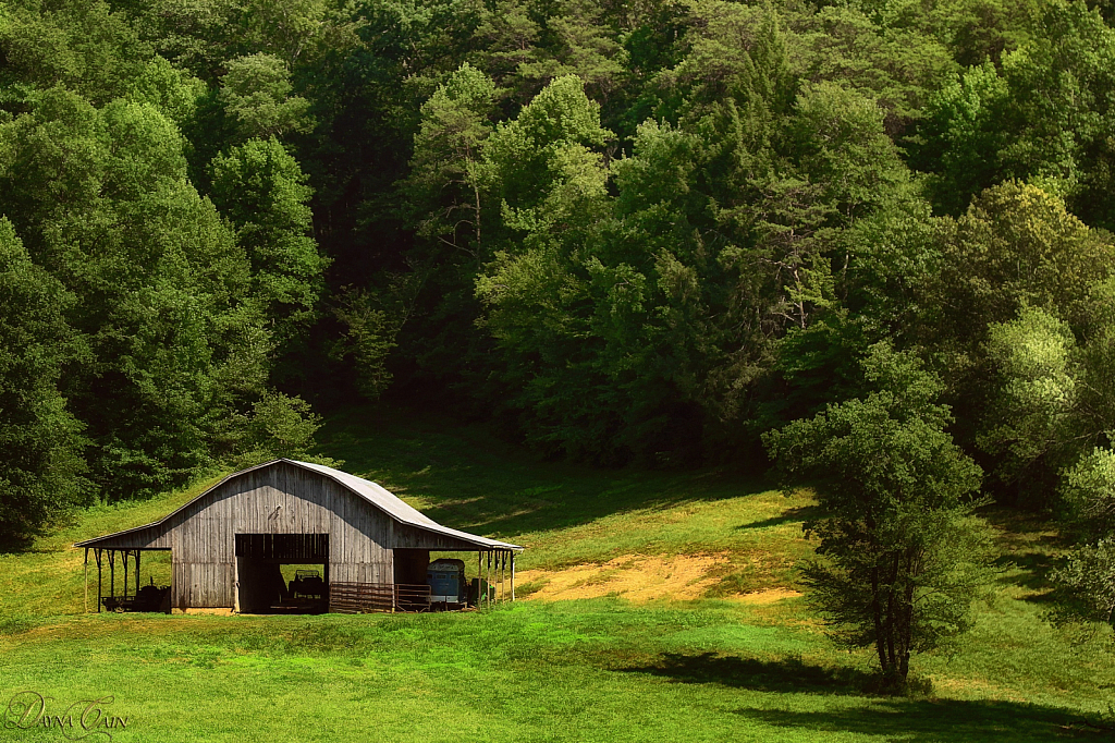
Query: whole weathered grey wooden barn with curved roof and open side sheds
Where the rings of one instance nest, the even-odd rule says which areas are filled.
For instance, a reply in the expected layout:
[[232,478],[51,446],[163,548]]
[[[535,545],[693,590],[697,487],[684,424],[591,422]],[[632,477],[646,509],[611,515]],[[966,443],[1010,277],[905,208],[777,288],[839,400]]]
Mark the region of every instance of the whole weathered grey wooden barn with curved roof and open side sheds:
[[[157,599],[163,610],[250,614],[425,610],[513,598],[514,557],[523,549],[443,527],[374,482],[285,459],[229,475],[161,521],[75,547],[85,548],[87,595],[94,554],[98,610],[152,610],[155,591],[139,585],[142,556],[168,550],[173,579],[168,601],[165,589]],[[475,552],[478,578],[466,585],[462,561],[438,560],[450,571],[449,563],[460,565],[460,590],[432,596],[430,552]],[[288,582],[282,566],[320,570]]]

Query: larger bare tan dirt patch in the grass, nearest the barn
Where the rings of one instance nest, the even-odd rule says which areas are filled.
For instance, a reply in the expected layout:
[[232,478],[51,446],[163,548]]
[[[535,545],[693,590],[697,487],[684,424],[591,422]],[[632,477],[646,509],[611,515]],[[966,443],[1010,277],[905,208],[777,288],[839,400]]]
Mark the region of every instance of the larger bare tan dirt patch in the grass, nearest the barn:
[[624,554],[603,565],[580,565],[565,570],[524,570],[524,582],[542,582],[531,599],[566,601],[600,596],[622,596],[636,604],[653,599],[686,601],[700,598],[719,578],[727,554],[648,557]]

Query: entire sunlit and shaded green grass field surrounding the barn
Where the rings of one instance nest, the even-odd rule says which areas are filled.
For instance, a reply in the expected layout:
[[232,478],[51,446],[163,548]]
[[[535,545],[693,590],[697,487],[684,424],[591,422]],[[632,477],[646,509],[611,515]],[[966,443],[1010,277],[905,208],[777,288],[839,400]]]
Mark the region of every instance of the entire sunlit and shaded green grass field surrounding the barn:
[[[355,411],[320,438],[442,523],[525,546],[525,600],[421,616],[83,614],[68,546],[157,519],[213,481],[201,482],[0,556],[0,712],[19,692],[57,715],[110,695],[101,720],[126,726],[88,740],[159,743],[1105,740],[1082,722],[1115,696],[1115,648],[1043,620],[1055,534],[1008,512],[988,513],[1002,570],[976,629],[915,658],[925,694],[889,698],[867,691],[870,653],[834,648],[796,590],[807,492],[726,469],[542,463],[401,412]],[[149,569],[166,581],[165,562],[145,561],[144,582]],[[11,720],[0,742],[66,740]]]

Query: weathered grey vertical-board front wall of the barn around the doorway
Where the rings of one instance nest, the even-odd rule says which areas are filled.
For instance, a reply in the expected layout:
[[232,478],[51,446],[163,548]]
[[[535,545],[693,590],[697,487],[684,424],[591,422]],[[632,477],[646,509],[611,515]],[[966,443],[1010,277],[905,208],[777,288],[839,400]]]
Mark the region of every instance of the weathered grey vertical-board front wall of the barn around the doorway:
[[[174,517],[172,606],[235,606],[235,534],[329,534],[329,578],[391,582],[394,519],[338,482],[280,462],[214,489]],[[152,547],[164,547],[163,539]]]

